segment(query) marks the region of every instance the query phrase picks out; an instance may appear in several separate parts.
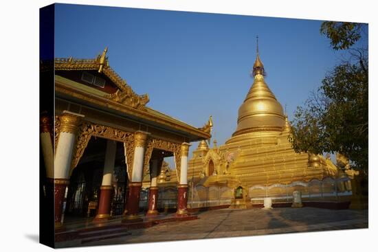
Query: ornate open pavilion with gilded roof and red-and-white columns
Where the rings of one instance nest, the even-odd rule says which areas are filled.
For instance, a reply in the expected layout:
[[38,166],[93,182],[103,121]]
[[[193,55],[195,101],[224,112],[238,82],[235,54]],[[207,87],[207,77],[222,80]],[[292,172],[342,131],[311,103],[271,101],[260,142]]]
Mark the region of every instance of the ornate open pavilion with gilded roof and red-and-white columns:
[[[196,128],[146,106],[148,95],[137,95],[106,54],[107,48],[93,59],[54,60],[55,111],[41,114],[40,135],[44,192],[55,199],[56,228],[66,214],[90,216],[92,209],[94,220],[114,211],[124,221],[137,219],[145,177],[147,214],[158,214],[164,157],[175,159],[176,215],[186,216],[190,142],[211,137],[209,124]],[[41,80],[51,70],[42,64]]]

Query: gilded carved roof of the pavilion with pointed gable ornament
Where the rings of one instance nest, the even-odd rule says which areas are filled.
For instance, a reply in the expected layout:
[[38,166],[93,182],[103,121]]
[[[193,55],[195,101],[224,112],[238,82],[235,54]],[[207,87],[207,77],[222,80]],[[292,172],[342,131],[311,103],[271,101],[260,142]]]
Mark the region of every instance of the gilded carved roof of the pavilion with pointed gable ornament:
[[[155,126],[178,130],[181,133],[186,133],[185,135],[190,135],[189,139],[192,139],[192,141],[211,137],[208,126],[196,128],[170,115],[166,115],[146,106],[149,101],[148,94],[138,95],[135,93],[129,84],[127,84],[126,80],[122,79],[118,73],[109,66],[106,53],[107,48],[105,48],[102,55],[99,54],[97,58],[55,58],[54,69],[59,71],[98,71],[98,73],[104,74],[104,76],[107,76],[107,78],[115,84],[118,88],[115,93],[102,93],[101,91],[96,91],[96,89],[90,91],[90,88],[77,89],[73,85],[67,85],[67,81],[62,81],[64,78],[56,78],[56,92],[63,92],[65,96],[68,94],[76,98],[76,100],[94,103],[107,110],[111,108],[117,111],[118,114],[132,115],[134,118],[140,118],[144,122],[153,122]],[[42,64],[41,70],[43,70],[43,68]]]

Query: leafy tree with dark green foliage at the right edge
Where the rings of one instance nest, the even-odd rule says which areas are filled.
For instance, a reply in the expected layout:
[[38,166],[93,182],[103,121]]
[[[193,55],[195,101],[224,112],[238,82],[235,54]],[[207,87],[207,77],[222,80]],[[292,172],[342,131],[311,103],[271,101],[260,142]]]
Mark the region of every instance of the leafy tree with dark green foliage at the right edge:
[[350,56],[326,73],[320,88],[294,114],[289,141],[296,152],[340,152],[368,170],[368,48],[355,43],[367,25],[324,22],[320,32]]

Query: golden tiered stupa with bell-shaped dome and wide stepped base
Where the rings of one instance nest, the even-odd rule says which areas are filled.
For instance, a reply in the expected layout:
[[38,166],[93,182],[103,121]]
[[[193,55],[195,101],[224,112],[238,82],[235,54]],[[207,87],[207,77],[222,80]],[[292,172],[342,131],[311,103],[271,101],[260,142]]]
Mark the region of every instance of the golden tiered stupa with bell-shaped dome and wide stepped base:
[[[209,148],[201,141],[188,161],[188,178],[204,187],[241,190],[243,198],[291,194],[300,183],[335,178],[337,166],[321,155],[294,152],[290,124],[280,102],[265,82],[265,69],[256,55],[254,82],[238,110],[235,132],[225,144]],[[234,197],[236,197],[234,195]]]

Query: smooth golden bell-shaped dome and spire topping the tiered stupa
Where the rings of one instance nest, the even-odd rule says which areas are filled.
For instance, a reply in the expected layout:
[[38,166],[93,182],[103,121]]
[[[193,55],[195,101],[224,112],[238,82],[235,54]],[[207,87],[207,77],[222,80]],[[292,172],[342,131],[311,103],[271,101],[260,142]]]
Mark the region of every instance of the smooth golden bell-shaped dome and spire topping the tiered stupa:
[[264,65],[257,54],[254,83],[238,111],[238,126],[232,136],[256,131],[282,131],[285,116],[280,102],[264,80]]

